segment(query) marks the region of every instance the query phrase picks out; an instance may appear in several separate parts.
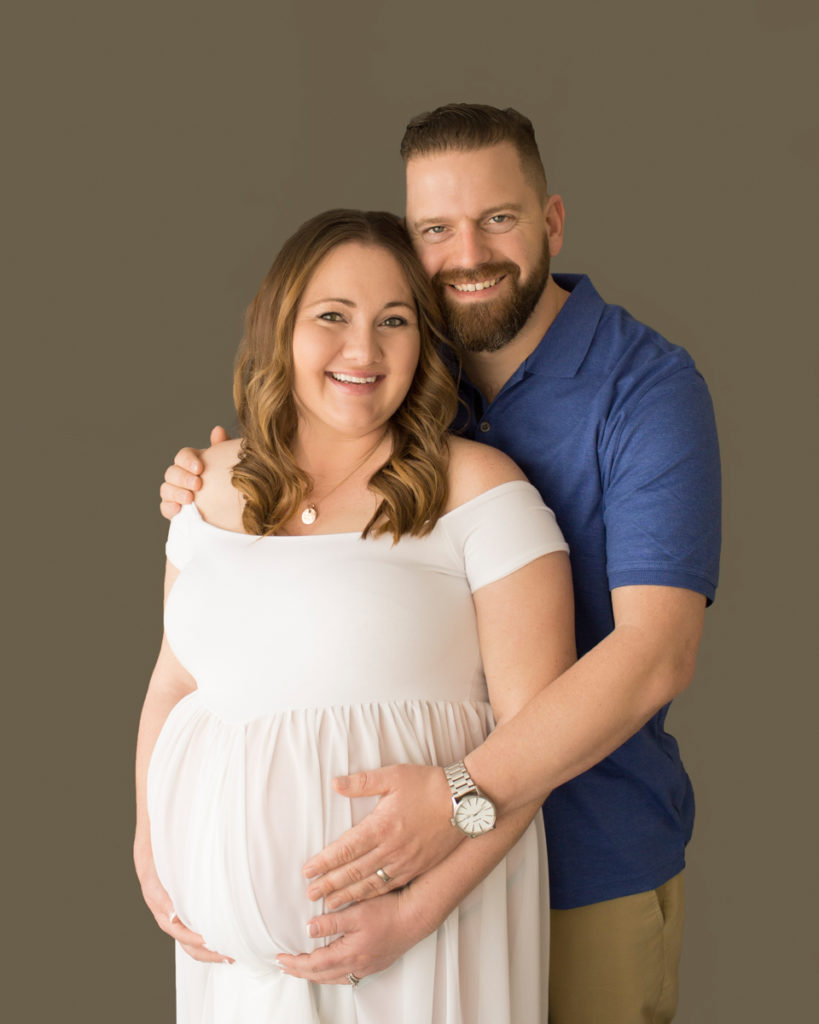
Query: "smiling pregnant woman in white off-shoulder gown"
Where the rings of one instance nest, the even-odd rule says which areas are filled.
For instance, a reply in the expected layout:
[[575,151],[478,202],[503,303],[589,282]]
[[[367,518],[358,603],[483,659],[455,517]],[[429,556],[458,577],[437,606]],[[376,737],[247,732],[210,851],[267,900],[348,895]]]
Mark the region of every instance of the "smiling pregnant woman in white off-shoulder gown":
[[[546,1021],[537,807],[492,827],[462,762],[573,658],[566,546],[512,462],[447,434],[438,324],[400,222],[357,211],[299,228],[248,310],[242,440],[171,524],[137,743],[135,863],[181,1024]],[[310,948],[301,865],[370,809],[331,780],[401,762],[447,770],[459,821],[412,885],[378,872],[407,951],[282,974]]]

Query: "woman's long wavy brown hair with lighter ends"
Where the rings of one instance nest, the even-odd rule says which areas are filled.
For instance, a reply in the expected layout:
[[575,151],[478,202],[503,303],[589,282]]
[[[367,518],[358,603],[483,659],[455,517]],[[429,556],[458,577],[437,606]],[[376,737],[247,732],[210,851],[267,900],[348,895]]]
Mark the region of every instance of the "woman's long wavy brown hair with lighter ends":
[[[245,497],[249,534],[277,534],[310,493],[293,444],[298,414],[293,397],[293,330],[298,306],[318,263],[337,246],[358,242],[390,253],[403,270],[418,314],[421,352],[413,383],[390,420],[392,454],[370,478],[380,496],[369,534],[428,534],[446,505],[447,431],[458,397],[439,354],[448,348],[429,279],[402,222],[391,213],[329,210],[292,234],[267,271],[245,316],[233,374],[242,428],[232,483]],[[451,352],[451,349],[449,348]]]

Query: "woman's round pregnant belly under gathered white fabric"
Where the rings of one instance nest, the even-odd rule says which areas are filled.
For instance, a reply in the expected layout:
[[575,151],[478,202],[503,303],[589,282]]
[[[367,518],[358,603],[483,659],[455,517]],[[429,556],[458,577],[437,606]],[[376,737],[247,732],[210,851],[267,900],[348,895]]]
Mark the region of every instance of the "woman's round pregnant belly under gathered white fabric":
[[301,866],[367,814],[335,775],[381,764],[445,764],[489,727],[483,703],[403,701],[302,709],[225,722],[195,692],[174,708],[148,770],[157,869],[180,919],[249,967],[314,947],[321,911]]

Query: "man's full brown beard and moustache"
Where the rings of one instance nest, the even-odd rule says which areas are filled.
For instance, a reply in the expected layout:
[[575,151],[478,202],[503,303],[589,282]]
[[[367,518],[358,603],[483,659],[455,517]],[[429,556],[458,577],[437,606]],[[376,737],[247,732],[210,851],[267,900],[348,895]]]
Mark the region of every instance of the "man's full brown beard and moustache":
[[[449,340],[465,352],[497,352],[508,345],[531,316],[549,281],[549,240],[527,281],[521,284],[516,263],[481,263],[472,269],[438,271],[432,284],[443,310]],[[511,289],[506,296],[481,303],[458,305],[449,297],[449,285],[474,284],[506,275]]]

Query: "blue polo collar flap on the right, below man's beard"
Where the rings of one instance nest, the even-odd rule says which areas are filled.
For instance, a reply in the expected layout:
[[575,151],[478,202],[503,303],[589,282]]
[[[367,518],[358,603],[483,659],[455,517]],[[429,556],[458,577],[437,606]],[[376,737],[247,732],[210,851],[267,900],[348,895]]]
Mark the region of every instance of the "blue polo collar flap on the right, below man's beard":
[[574,377],[586,358],[606,304],[585,273],[556,273],[553,276],[570,293],[569,297],[518,373]]

